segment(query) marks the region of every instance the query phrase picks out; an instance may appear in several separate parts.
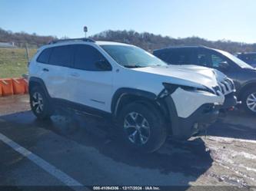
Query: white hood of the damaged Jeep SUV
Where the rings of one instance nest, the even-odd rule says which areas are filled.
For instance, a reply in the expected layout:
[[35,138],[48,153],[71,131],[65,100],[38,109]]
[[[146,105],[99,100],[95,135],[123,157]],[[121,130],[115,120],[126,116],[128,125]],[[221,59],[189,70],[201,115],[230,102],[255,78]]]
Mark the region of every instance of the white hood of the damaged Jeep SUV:
[[190,87],[208,87],[211,90],[218,86],[221,81],[228,77],[211,68],[205,68],[197,65],[168,65],[151,66],[146,68],[135,68],[136,71],[147,72],[161,75],[166,78],[170,84],[186,85]]

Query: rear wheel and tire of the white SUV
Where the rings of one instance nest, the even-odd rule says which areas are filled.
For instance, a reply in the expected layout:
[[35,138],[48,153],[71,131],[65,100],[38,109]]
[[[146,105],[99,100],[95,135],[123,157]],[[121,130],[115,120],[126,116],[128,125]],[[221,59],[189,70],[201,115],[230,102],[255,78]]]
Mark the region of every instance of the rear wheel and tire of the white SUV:
[[30,91],[30,107],[33,114],[40,120],[49,119],[53,114],[50,101],[40,87],[33,87]]

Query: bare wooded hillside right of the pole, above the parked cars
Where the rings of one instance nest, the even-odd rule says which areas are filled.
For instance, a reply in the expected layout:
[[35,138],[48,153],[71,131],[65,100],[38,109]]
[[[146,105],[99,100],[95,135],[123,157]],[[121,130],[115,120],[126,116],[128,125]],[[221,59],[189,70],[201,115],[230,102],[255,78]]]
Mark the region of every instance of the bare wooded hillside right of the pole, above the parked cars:
[[255,44],[245,44],[234,41],[208,41],[204,38],[170,38],[161,35],[154,35],[148,32],[138,33],[136,31],[103,31],[91,38],[101,41],[119,41],[128,44],[135,44],[147,51],[153,51],[158,48],[178,45],[204,45],[211,48],[218,48],[231,53],[238,51],[256,51]]

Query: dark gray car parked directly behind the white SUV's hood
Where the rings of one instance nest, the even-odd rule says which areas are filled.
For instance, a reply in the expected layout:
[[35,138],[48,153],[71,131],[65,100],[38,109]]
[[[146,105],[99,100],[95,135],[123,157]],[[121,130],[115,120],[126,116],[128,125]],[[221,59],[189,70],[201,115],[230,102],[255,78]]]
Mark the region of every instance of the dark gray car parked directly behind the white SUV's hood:
[[234,55],[204,46],[181,46],[155,50],[155,56],[168,64],[195,64],[215,68],[234,81],[242,107],[256,115],[256,68]]

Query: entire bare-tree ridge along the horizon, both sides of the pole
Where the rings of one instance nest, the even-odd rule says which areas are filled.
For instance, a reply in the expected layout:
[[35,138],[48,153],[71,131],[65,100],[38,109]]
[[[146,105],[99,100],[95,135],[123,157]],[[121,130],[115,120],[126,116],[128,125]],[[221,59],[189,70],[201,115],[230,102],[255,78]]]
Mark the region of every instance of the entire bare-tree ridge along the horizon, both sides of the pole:
[[[65,37],[67,38],[67,37]],[[243,51],[256,51],[256,43],[246,44],[234,41],[208,41],[204,38],[189,37],[189,38],[171,38],[168,36],[154,35],[149,32],[138,33],[137,31],[102,31],[97,35],[91,35],[90,38],[100,41],[118,41],[128,44],[134,44],[147,51],[153,51],[158,48],[165,48],[168,46],[181,45],[204,45],[211,48],[218,48],[231,53]],[[16,46],[22,47],[25,43],[30,47],[40,47],[42,44],[47,44],[49,41],[56,40],[55,36],[41,36],[28,34],[26,32],[12,32],[5,31],[0,28],[0,42],[14,42]]]

